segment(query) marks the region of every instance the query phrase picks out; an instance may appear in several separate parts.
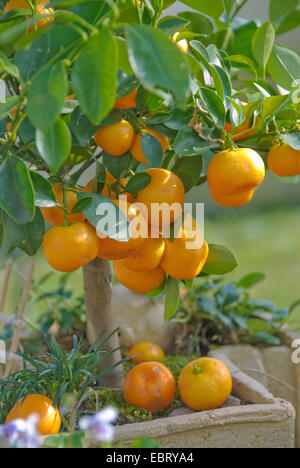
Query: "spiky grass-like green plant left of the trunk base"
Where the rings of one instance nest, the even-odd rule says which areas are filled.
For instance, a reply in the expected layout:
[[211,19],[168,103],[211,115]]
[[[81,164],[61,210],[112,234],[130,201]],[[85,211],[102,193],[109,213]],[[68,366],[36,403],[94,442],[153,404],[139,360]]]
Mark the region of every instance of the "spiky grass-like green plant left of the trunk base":
[[[113,332],[115,333],[115,332]],[[113,367],[105,367],[103,361],[115,350],[106,352],[105,345],[112,334],[99,336],[86,354],[82,352],[83,341],[73,338],[71,352],[65,352],[52,336],[46,338],[48,353],[33,358],[20,353],[24,369],[0,380],[0,423],[20,398],[32,393],[40,393],[53,400],[54,405],[69,405],[72,396],[72,409],[77,411],[89,387],[95,385]],[[99,370],[100,369],[100,370]]]

